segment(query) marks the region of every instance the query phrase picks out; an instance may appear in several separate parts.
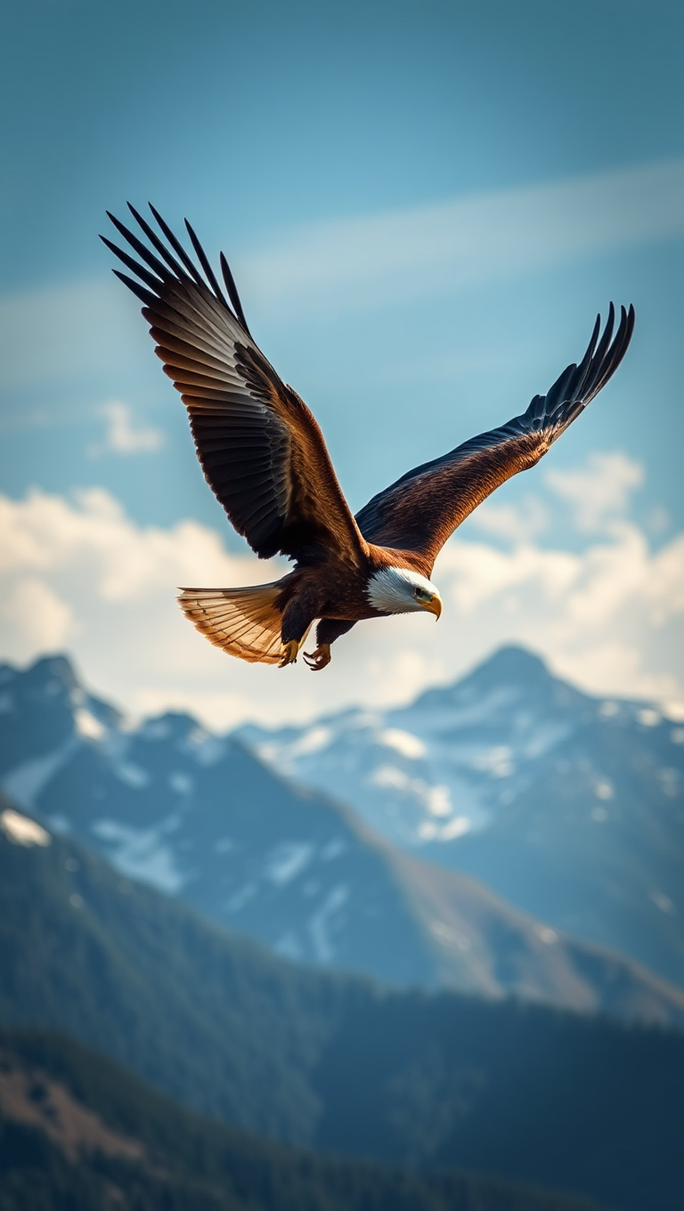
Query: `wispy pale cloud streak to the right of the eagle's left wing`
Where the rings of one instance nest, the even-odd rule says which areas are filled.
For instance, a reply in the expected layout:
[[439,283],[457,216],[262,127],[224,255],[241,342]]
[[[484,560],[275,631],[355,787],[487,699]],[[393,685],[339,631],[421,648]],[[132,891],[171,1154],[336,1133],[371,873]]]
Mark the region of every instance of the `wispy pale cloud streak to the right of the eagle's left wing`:
[[378,305],[684,233],[684,160],[321,223],[240,264],[261,304]]

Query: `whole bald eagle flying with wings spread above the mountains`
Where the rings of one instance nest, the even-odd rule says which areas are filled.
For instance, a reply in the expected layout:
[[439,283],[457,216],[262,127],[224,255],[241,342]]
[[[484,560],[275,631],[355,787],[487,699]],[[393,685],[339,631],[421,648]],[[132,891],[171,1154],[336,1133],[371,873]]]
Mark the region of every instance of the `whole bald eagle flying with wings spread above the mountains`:
[[140,235],[108,213],[127,248],[100,239],[134,277],[116,276],[143,303],[155,352],[188,409],[197,458],[214,495],[259,558],[283,555],[282,579],[240,589],[183,589],[186,618],[241,660],[297,660],[314,622],[310,668],[330,662],[335,639],[362,619],[442,613],[435,559],[462,521],[501,483],[539,463],[615,373],[634,309],[597,316],[585,356],[546,395],[500,429],[423,463],[352,516],[323,435],[304,401],[255,344],[228,262],[224,288],[185,220],[196,260],[150,205],[159,230],[128,203]]

